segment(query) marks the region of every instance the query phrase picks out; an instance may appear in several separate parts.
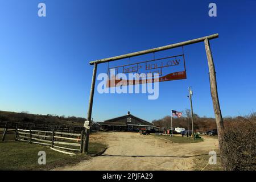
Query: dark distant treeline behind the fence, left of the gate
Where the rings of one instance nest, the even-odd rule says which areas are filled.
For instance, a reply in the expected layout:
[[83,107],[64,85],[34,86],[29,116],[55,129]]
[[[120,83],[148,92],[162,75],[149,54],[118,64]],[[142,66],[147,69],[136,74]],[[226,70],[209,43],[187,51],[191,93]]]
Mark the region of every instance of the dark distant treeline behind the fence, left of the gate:
[[0,122],[31,122],[31,123],[59,123],[63,125],[82,125],[86,119],[81,117],[64,115],[40,115],[40,114],[29,114],[26,111],[21,113],[14,113],[9,111],[0,111]]

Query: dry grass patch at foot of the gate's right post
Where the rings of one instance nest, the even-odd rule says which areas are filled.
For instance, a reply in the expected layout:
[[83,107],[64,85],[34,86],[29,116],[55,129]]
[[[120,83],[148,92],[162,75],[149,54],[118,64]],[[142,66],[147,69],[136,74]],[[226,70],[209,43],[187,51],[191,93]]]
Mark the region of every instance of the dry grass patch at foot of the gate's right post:
[[[215,150],[217,153],[217,164],[208,164],[209,155],[201,155],[201,156],[196,156],[195,158],[193,158],[193,170],[195,171],[201,171],[203,169],[203,171],[221,171],[223,170],[221,167],[221,161],[220,161],[220,156],[219,156],[219,152],[218,150]],[[207,166],[207,167],[205,167]],[[205,168],[204,168],[205,167]]]

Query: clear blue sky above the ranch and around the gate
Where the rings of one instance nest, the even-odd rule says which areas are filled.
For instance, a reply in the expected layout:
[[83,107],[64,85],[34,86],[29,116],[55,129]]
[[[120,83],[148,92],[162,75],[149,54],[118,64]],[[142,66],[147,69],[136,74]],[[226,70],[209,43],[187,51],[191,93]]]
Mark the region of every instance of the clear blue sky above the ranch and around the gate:
[[[38,3],[47,16],[38,16]],[[0,0],[0,110],[86,117],[93,66],[89,61],[210,34],[222,115],[256,108],[256,1],[3,1]],[[171,49],[167,55],[182,52]],[[94,121],[127,111],[148,121],[193,107],[213,117],[204,43],[184,47],[187,80],[161,82],[147,94],[94,94]],[[135,61],[135,58],[134,58]],[[110,65],[127,64],[119,60]],[[98,73],[108,64],[98,65]],[[96,82],[96,85],[99,81]]]

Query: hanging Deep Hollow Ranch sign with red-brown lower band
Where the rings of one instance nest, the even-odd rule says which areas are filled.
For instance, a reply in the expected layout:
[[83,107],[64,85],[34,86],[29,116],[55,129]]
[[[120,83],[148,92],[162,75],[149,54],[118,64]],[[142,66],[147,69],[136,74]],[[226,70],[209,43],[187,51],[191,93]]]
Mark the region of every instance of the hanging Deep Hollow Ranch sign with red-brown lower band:
[[185,78],[185,57],[176,55],[108,68],[107,87],[120,86],[120,83],[125,86]]

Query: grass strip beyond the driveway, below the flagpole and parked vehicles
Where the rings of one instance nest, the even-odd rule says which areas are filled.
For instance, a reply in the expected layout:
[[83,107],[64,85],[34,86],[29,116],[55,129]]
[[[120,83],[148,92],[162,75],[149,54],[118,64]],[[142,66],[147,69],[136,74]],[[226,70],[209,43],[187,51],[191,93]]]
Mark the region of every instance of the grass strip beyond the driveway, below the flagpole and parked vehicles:
[[197,142],[203,142],[204,139],[199,138],[192,140],[192,138],[187,138],[187,137],[181,137],[181,136],[173,136],[170,137],[170,135],[152,135],[154,137],[162,138],[165,140],[169,140],[172,143],[197,143]]

